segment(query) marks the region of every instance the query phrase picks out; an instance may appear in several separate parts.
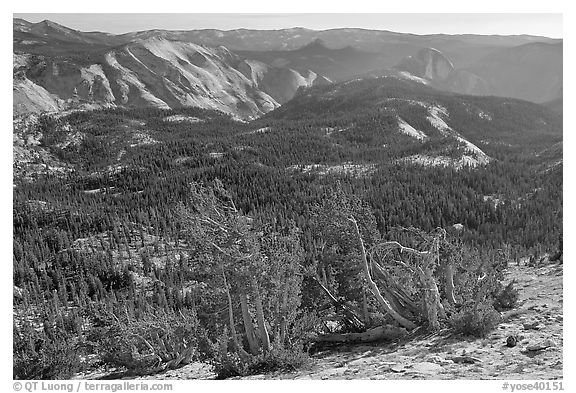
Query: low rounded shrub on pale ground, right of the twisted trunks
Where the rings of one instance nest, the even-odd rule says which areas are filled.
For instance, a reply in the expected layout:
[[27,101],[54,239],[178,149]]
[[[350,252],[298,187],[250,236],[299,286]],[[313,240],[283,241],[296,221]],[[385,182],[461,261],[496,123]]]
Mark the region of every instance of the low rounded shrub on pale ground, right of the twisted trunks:
[[456,334],[485,337],[500,320],[500,313],[490,301],[484,300],[478,304],[464,305],[450,317],[449,323]]

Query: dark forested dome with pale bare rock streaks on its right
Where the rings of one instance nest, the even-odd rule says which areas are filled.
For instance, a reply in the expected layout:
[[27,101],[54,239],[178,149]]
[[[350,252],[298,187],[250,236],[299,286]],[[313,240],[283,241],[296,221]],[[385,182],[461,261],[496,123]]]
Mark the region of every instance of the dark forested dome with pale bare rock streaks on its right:
[[456,169],[486,165],[503,146],[525,153],[534,146],[537,155],[562,138],[562,117],[543,105],[440,91],[396,75],[301,91],[262,121],[329,123],[330,140],[395,152],[398,163]]

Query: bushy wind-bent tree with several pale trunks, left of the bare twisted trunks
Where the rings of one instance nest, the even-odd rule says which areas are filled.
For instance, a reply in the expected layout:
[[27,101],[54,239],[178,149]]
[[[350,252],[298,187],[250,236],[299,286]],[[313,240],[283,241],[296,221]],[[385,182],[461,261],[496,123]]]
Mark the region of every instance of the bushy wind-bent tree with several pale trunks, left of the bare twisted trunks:
[[252,355],[270,351],[271,337],[284,345],[300,305],[299,231],[291,223],[283,232],[273,231],[244,215],[218,180],[210,187],[192,183],[190,195],[188,204],[179,208],[180,225],[191,255],[211,272],[209,285],[220,286],[226,295],[235,352],[249,358],[240,336]]

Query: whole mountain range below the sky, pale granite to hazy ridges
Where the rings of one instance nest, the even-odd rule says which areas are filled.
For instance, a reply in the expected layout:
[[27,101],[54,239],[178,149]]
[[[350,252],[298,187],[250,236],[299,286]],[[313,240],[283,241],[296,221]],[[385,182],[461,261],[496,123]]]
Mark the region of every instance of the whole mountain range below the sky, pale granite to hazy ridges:
[[364,29],[113,35],[13,20],[14,114],[100,107],[216,109],[254,119],[300,88],[394,76],[536,103],[562,97],[562,40]]

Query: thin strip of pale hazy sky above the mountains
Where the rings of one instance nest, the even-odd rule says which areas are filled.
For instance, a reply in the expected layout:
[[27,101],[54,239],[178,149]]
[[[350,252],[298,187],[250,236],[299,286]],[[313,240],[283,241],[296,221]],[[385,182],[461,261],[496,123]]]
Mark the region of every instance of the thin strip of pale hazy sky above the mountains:
[[125,33],[148,29],[322,30],[361,27],[414,34],[531,34],[561,38],[561,14],[14,14],[44,19],[82,31]]

